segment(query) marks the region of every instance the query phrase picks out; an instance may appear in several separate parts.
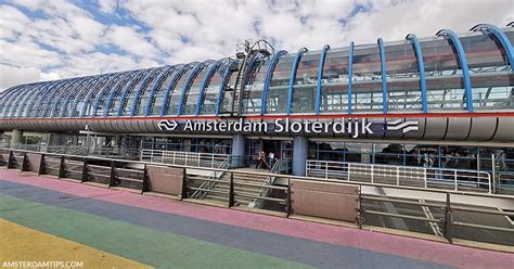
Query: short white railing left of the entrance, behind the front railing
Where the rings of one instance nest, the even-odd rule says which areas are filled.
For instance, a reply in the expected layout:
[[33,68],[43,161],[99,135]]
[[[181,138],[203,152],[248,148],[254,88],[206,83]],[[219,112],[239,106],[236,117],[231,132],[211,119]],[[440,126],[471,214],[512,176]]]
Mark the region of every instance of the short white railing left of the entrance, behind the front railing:
[[142,150],[140,161],[170,165],[217,168],[230,159],[229,154]]

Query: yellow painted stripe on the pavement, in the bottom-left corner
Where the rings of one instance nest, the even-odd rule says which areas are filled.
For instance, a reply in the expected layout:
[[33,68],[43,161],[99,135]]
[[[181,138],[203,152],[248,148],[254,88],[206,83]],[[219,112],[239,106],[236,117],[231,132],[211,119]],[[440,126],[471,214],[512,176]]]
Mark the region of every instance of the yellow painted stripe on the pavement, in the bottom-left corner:
[[0,219],[0,265],[4,261],[78,261],[83,268],[151,268],[106,252]]

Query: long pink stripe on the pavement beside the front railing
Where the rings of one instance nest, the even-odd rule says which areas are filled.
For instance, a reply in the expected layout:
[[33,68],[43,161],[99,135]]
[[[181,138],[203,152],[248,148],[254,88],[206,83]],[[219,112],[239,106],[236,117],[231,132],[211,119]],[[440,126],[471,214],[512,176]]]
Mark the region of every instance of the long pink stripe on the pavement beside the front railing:
[[[396,236],[378,232],[335,227],[322,223],[278,218],[258,214],[248,214],[226,208],[202,206],[191,203],[118,192],[75,182],[29,176],[16,171],[0,169],[4,181],[23,182],[48,190],[59,190],[66,194],[81,197],[94,197],[110,203],[125,204],[133,207],[171,213],[174,215],[216,221],[254,230],[269,231],[290,236],[309,239],[343,246],[370,249],[374,252],[399,255],[419,260],[444,262],[458,267],[501,267],[509,268],[514,262],[513,255],[505,253],[476,249],[438,242]],[[49,198],[42,197],[39,198]]]

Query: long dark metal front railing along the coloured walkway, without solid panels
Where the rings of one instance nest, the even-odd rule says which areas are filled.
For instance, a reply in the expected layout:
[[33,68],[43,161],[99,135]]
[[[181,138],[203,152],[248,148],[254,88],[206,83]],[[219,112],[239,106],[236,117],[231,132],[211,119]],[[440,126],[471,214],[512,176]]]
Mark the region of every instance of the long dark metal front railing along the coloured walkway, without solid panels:
[[[28,151],[13,151],[13,150],[1,150],[0,149],[1,162],[0,166],[7,166],[10,169],[20,169],[22,171],[27,170],[31,165],[26,166],[26,159],[28,154],[37,152]],[[147,172],[146,165],[152,165],[146,162],[138,161],[127,161],[127,159],[113,159],[104,157],[85,157],[77,155],[66,155],[66,154],[55,154],[55,153],[37,153],[41,155],[41,164],[38,167],[37,172],[40,175],[55,175],[59,178],[74,178],[77,179],[77,182],[97,182],[103,183],[107,187],[124,187],[128,189],[134,189],[139,192],[147,191],[145,184],[147,184]],[[217,169],[208,167],[195,167],[195,166],[184,166],[184,165],[169,165],[162,164],[159,166],[167,166],[172,168],[181,168],[184,170],[183,177],[183,195],[181,198],[191,197],[191,195],[196,191],[207,192],[207,193],[217,193],[223,195],[228,201],[228,206],[234,206],[235,197],[246,197],[246,198],[258,198],[261,201],[273,202],[285,205],[281,207],[281,212],[285,213],[285,216],[288,217],[290,214],[294,212],[294,204],[291,201],[291,183],[287,183],[286,187],[279,185],[260,185],[252,182],[234,182],[234,175],[241,177],[286,177],[288,182],[291,179],[300,179],[300,180],[312,180],[312,181],[324,181],[324,182],[340,182],[340,180],[331,180],[331,179],[319,179],[319,178],[308,178],[308,177],[296,177],[296,176],[284,176],[275,175],[268,172],[256,172],[256,171],[234,171],[229,169]],[[33,167],[34,168],[34,167]],[[189,180],[190,175],[187,170],[205,170],[210,172],[224,172],[228,177],[222,177],[220,179],[209,179],[209,178],[194,178],[194,180],[214,182],[216,184],[224,184],[227,190],[213,190],[208,188],[202,188],[202,185],[196,187],[193,182]],[[227,180],[229,178],[229,180]],[[356,210],[358,213],[358,218],[356,223],[363,228],[363,225],[367,226],[380,226],[384,227],[383,223],[375,223],[370,216],[377,216],[380,219],[391,218],[391,219],[404,219],[409,221],[422,221],[431,226],[440,227],[437,230],[441,231],[442,236],[445,236],[449,242],[453,238],[459,239],[468,239],[466,236],[476,234],[480,232],[483,235],[480,238],[473,238],[475,241],[485,241],[490,242],[489,238],[491,232],[497,234],[497,239],[500,240],[500,243],[512,241],[512,234],[514,234],[514,229],[507,226],[496,226],[490,223],[489,218],[471,218],[472,214],[475,215],[488,215],[488,216],[499,216],[503,217],[514,217],[512,206],[502,207],[498,209],[489,206],[487,203],[479,205],[477,203],[466,204],[462,201],[462,197],[475,200],[499,200],[501,198],[504,205],[512,205],[514,202],[514,196],[510,195],[498,195],[498,194],[488,194],[488,193],[478,193],[478,192],[468,192],[463,190],[426,190],[420,187],[410,187],[410,185],[391,185],[384,184],[378,182],[355,182],[346,181],[345,183],[361,185],[361,187],[381,187],[387,190],[401,190],[401,191],[423,191],[427,193],[431,198],[420,200],[417,196],[415,198],[409,196],[398,196],[395,194],[384,195],[372,192],[360,192],[358,206]],[[267,197],[259,196],[248,193],[239,193],[237,190],[234,190],[234,185],[245,185],[252,188],[266,188],[268,191],[277,190],[284,193],[284,197]],[[205,187],[205,185],[204,185]],[[362,188],[360,188],[362,189]],[[446,195],[446,200],[445,196]],[[436,198],[439,197],[439,198]],[[468,200],[468,201],[472,201]],[[388,210],[385,207],[377,207],[376,203],[391,203],[396,205],[407,205],[406,207],[397,207],[402,209],[401,212],[395,213]],[[374,206],[374,207],[373,207]],[[428,208],[432,210],[432,214],[424,214],[425,209]],[[266,208],[269,210],[269,208]],[[465,216],[459,219],[459,213],[466,213]],[[388,228],[388,227],[387,227]],[[393,229],[401,229],[398,227],[393,227]],[[463,230],[464,229],[464,230]],[[471,232],[472,231],[472,232]],[[438,235],[438,234],[436,234]]]

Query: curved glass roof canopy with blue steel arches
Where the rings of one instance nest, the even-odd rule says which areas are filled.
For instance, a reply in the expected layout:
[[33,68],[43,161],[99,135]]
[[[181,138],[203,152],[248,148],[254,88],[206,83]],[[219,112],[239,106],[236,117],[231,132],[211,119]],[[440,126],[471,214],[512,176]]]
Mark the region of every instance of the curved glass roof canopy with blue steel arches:
[[20,85],[0,93],[0,118],[513,111],[514,28],[257,54],[234,93],[239,60],[222,59]]

